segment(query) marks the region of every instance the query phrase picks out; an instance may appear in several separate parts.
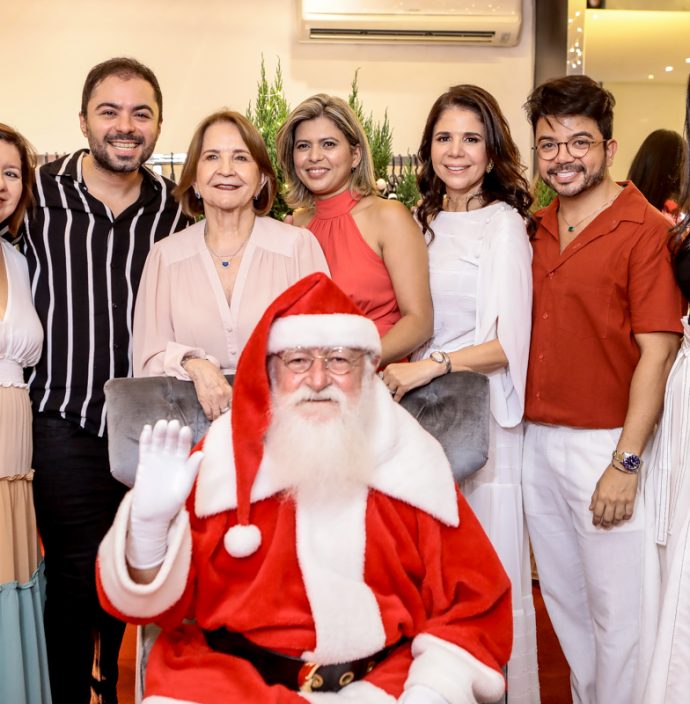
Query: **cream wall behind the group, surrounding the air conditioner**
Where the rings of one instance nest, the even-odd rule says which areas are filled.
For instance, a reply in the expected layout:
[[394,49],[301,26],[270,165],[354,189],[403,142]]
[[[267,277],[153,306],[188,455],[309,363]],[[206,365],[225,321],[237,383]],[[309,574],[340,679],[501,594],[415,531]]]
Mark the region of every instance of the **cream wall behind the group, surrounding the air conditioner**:
[[5,0],[0,121],[39,152],[84,145],[77,114],[88,70],[118,55],[150,66],[164,97],[157,152],[186,151],[195,124],[221,106],[244,112],[256,94],[261,54],[278,57],[294,107],[316,92],[347,97],[355,69],[367,110],[388,107],[396,153],[416,151],[433,100],[449,85],[492,92],[527,161],[521,105],[532,88],[533,0],[524,1],[514,48],[301,44],[297,0]]

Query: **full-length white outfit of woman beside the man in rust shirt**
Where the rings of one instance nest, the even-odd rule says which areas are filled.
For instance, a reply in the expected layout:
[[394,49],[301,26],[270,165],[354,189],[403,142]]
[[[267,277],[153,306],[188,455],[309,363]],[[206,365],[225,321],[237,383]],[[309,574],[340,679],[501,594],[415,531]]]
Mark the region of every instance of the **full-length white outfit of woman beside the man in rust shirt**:
[[522,414],[532,314],[532,248],[520,215],[506,203],[469,213],[441,212],[429,245],[434,334],[413,359],[496,338],[508,367],[489,374],[489,460],[461,486],[513,586],[511,704],[539,702],[537,639],[522,510]]

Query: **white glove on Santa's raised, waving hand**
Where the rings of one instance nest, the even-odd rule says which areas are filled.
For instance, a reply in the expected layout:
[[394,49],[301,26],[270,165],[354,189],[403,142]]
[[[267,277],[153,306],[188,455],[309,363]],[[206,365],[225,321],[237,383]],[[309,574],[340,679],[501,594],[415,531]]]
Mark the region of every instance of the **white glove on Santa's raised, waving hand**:
[[181,511],[204,457],[191,457],[192,431],[177,420],[145,425],[139,438],[139,464],[132,489],[125,555],[135,569],[163,562],[171,521]]

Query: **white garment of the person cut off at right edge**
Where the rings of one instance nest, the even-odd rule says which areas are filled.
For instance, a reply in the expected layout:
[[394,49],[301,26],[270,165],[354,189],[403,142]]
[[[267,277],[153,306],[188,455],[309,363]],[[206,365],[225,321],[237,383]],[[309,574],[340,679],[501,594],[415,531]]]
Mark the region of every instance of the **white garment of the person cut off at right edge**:
[[[669,374],[645,478],[648,510],[640,671],[644,704],[690,697],[690,323]],[[651,520],[650,520],[651,519]]]

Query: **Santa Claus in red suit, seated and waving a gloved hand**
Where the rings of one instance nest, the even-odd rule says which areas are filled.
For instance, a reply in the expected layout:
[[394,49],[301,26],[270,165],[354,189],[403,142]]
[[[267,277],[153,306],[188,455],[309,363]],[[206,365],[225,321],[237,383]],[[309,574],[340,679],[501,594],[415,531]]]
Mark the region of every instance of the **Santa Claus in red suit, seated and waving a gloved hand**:
[[314,274],[266,311],[191,456],[176,421],[142,432],[98,581],[112,614],[163,628],[146,704],[502,696],[508,579],[379,354]]

